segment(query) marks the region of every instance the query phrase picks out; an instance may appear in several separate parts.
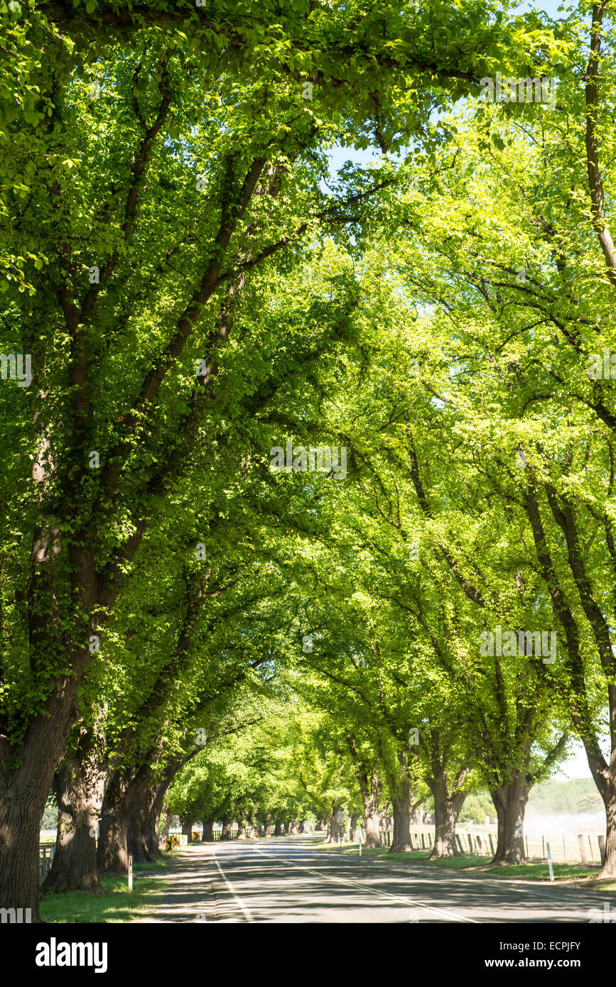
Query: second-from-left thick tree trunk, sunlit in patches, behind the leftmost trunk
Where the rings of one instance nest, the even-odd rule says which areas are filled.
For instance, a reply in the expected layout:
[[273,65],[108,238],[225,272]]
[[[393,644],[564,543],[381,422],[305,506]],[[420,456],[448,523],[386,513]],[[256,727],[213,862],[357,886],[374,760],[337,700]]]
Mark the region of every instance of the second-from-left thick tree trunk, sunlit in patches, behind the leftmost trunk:
[[76,752],[63,759],[53,776],[58,828],[45,890],[102,890],[96,851],[96,826],[107,782],[100,760],[102,746],[101,738],[80,729]]

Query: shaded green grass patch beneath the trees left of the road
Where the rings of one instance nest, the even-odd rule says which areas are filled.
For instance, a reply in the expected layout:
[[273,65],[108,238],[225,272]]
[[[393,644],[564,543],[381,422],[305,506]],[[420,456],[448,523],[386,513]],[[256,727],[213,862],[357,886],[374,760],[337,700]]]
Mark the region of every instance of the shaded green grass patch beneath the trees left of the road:
[[[175,855],[174,855],[175,856]],[[125,876],[102,876],[103,894],[90,891],[44,891],[40,898],[40,918],[44,922],[132,922],[143,917],[168,885],[147,874],[160,871],[167,861],[133,867],[132,891]]]

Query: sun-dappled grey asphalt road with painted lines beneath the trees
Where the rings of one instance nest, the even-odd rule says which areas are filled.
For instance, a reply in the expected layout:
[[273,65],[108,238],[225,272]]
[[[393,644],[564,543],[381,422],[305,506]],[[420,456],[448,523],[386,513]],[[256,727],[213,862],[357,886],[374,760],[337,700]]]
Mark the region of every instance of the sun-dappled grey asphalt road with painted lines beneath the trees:
[[311,837],[196,845],[169,877],[149,921],[588,923],[614,907],[613,894],[348,856]]

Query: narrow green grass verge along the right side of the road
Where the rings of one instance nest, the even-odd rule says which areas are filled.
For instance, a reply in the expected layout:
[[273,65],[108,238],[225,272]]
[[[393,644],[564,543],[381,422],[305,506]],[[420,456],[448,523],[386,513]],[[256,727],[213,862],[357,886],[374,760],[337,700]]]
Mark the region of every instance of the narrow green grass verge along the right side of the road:
[[[316,846],[322,850],[335,850],[343,854],[357,856],[358,844],[343,844],[342,848],[338,844],[318,843]],[[369,857],[378,861],[402,862],[404,864],[421,864],[425,867],[437,867],[447,871],[473,871],[474,873],[485,874],[487,877],[499,877],[509,879],[535,880],[538,882],[550,881],[548,865],[545,862],[530,864],[515,864],[506,867],[489,867],[489,858],[471,857],[461,855],[460,857],[446,857],[440,860],[429,861],[429,853],[426,850],[415,850],[408,854],[390,854],[386,848],[382,850],[362,850],[362,857]],[[588,877],[597,877],[598,867],[584,866],[581,864],[553,864],[554,880],[572,880]],[[616,890],[616,882],[600,881],[598,886],[601,890]]]

